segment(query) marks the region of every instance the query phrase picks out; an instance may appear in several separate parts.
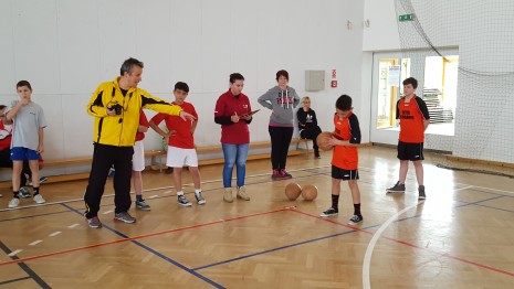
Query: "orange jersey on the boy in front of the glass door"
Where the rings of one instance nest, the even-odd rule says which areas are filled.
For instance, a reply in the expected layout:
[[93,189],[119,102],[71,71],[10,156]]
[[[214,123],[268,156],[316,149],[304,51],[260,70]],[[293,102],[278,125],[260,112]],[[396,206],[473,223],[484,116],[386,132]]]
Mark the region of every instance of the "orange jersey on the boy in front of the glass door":
[[430,119],[427,104],[415,95],[409,103],[405,97],[398,100],[396,118],[400,119],[399,140],[408,143],[424,142],[424,119]]

